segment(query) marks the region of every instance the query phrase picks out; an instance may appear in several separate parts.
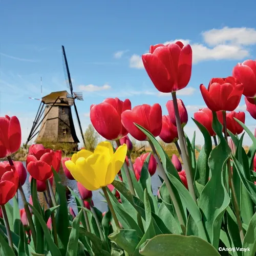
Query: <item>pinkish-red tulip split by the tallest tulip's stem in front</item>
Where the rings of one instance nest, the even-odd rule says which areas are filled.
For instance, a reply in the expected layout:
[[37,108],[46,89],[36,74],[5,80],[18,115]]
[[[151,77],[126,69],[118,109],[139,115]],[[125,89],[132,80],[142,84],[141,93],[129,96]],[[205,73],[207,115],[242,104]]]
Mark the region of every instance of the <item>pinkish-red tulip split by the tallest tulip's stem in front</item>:
[[[188,120],[187,110],[186,110],[185,105],[184,105],[184,103],[183,103],[183,101],[181,99],[177,99],[177,103],[178,103],[178,109],[179,109],[181,126],[184,127],[186,125],[186,123],[187,123],[187,120]],[[169,117],[170,117],[170,121],[175,126],[177,126],[176,125],[176,118],[175,118],[174,102],[173,102],[173,100],[167,101],[166,109],[168,111],[168,114],[169,114]]]

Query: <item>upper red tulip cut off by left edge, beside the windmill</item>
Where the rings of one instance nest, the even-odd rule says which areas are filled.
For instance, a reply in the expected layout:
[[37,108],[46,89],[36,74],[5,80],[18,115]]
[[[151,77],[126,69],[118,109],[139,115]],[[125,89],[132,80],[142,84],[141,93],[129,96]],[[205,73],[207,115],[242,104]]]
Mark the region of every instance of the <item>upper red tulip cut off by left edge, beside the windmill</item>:
[[0,117],[0,158],[18,151],[22,143],[22,131],[16,116]]

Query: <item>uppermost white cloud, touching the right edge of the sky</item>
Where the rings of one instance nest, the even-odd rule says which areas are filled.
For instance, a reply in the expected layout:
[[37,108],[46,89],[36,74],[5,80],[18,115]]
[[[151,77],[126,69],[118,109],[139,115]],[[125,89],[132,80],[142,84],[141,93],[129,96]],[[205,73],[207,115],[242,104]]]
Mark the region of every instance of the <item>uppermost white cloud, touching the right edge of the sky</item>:
[[209,46],[219,44],[254,45],[256,44],[256,30],[253,28],[228,28],[211,29],[202,32],[204,41]]

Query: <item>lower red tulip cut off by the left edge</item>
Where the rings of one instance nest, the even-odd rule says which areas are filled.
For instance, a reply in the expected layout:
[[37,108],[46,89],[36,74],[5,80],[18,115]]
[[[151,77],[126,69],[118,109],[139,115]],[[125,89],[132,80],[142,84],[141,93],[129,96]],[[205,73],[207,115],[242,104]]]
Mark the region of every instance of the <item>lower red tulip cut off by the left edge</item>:
[[14,197],[18,183],[18,173],[14,166],[0,166],[0,205],[6,204]]

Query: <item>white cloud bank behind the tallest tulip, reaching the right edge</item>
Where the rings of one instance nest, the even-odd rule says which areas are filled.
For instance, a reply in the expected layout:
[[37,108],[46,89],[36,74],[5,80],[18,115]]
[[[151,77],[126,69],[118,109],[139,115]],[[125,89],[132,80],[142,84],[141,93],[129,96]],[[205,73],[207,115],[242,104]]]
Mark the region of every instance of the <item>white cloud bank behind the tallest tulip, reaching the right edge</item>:
[[[163,44],[172,44],[182,41],[184,45],[190,44],[193,49],[193,63],[206,60],[244,59],[250,55],[245,46],[256,44],[256,30],[253,28],[211,29],[202,32],[203,44],[191,42],[189,39],[175,39]],[[143,69],[141,56],[133,54],[130,57],[130,68]]]

